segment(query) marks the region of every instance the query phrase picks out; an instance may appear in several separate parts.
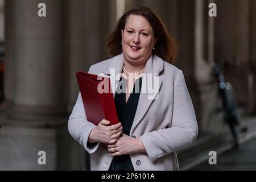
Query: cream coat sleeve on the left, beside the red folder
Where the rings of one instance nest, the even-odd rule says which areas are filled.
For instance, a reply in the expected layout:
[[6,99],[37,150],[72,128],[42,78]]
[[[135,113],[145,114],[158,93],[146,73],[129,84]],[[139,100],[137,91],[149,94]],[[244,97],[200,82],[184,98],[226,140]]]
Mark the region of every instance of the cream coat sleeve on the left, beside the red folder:
[[[92,72],[92,69],[93,65],[90,67],[89,73]],[[89,154],[95,152],[100,144],[100,142],[88,143],[89,134],[94,127],[96,127],[96,125],[87,121],[81,93],[79,92],[76,104],[68,119],[68,131],[77,142],[84,146],[85,150],[88,151]]]

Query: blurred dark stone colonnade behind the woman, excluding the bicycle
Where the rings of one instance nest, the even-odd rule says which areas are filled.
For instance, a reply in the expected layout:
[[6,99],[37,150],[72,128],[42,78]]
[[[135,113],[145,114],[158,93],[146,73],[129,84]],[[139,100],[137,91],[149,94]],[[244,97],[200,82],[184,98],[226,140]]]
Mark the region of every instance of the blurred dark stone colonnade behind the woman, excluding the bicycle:
[[[42,2],[46,17],[38,16]],[[212,2],[216,17],[208,15]],[[195,107],[199,136],[179,152],[180,168],[256,169],[250,156],[256,150],[255,0],[0,0],[0,170],[88,168],[88,155],[67,130],[79,92],[75,72],[109,58],[108,35],[125,10],[139,5],[150,7],[179,44],[174,65],[183,70]],[[248,127],[236,150],[214,60],[228,63],[224,75]],[[220,162],[214,168],[208,164],[212,150]],[[230,150],[234,154],[225,155]],[[46,152],[46,165],[38,164],[39,151]]]

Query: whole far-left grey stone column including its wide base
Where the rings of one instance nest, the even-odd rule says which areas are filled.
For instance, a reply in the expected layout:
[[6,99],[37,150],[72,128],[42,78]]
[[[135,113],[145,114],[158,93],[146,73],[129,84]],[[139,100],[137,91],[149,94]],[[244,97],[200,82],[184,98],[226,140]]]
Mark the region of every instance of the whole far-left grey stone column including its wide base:
[[[46,17],[38,4],[46,4]],[[1,105],[0,169],[57,169],[64,152],[62,1],[6,1],[6,102]],[[63,138],[61,138],[63,139]],[[63,151],[62,151],[63,149]],[[46,164],[38,164],[38,152]]]

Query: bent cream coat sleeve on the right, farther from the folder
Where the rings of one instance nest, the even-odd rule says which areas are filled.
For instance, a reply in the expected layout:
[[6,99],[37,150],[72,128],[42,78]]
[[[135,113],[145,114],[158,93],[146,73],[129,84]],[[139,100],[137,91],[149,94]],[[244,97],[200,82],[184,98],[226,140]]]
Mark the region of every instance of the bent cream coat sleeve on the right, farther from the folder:
[[181,70],[178,71],[174,84],[171,123],[170,128],[152,131],[139,137],[152,162],[190,146],[198,134],[195,111]]

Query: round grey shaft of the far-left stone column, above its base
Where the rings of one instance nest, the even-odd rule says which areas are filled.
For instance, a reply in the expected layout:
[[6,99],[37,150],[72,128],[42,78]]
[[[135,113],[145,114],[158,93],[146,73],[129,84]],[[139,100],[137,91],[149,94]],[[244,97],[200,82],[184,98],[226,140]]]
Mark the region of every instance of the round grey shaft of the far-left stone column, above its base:
[[61,1],[44,2],[47,17],[39,18],[39,1],[6,1],[5,93],[14,118],[64,111]]

